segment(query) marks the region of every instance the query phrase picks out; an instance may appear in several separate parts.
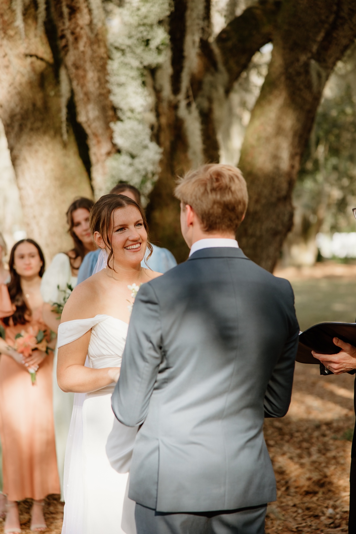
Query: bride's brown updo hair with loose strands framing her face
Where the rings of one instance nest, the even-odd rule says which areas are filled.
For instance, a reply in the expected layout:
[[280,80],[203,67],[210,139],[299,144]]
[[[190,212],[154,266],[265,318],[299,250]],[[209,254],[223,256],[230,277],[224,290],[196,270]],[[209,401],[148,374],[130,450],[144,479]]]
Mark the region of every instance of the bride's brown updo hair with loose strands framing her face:
[[141,206],[137,202],[135,202],[135,200],[132,200],[129,197],[126,197],[125,195],[103,195],[92,207],[92,210],[90,212],[89,224],[92,235],[94,235],[94,232],[99,232],[102,239],[104,239],[106,246],[110,249],[110,253],[107,259],[107,265],[109,269],[113,269],[112,267],[110,267],[109,262],[114,256],[113,247],[111,244],[111,236],[109,235],[110,223],[114,223],[114,211],[116,209],[126,208],[127,206],[135,206],[135,208],[137,208],[140,212],[140,215],[144,222],[144,227],[147,232],[147,248],[149,250],[149,254],[145,258],[145,263],[151,257],[151,254],[153,252],[152,245],[149,242],[146,215]]

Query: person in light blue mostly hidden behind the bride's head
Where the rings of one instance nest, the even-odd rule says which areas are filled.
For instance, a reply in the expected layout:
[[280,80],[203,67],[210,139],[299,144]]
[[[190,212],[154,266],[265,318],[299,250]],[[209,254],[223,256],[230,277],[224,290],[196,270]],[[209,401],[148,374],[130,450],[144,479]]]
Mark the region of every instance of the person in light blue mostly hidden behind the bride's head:
[[[135,202],[138,205],[141,205],[141,195],[139,190],[126,182],[119,182],[113,189],[110,191],[112,194],[116,195],[125,195]],[[152,244],[153,253],[152,256],[147,261],[147,265],[150,269],[156,272],[167,272],[172,267],[177,265],[176,258],[173,254],[167,249],[162,247],[157,247]],[[94,250],[94,252],[89,253],[82,262],[82,265],[78,272],[78,284],[89,278],[96,267],[100,249]],[[147,267],[145,260],[141,263],[141,266]]]

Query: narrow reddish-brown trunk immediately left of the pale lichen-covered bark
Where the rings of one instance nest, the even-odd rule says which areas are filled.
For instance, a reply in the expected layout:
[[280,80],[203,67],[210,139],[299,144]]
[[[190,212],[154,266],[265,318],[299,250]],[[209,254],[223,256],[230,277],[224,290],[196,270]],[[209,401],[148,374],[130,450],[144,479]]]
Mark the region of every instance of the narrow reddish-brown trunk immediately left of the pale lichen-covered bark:
[[87,136],[94,194],[99,198],[107,193],[107,158],[116,152],[110,128],[116,117],[107,85],[104,12],[100,2],[52,0],[51,5],[73,87],[77,120]]

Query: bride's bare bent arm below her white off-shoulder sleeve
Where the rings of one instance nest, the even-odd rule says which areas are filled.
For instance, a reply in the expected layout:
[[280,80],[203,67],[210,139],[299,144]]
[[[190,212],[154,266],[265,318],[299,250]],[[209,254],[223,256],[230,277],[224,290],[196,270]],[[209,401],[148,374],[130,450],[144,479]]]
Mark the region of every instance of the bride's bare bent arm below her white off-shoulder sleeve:
[[58,349],[57,381],[62,391],[88,393],[117,382],[120,367],[84,367],[90,330],[79,339]]

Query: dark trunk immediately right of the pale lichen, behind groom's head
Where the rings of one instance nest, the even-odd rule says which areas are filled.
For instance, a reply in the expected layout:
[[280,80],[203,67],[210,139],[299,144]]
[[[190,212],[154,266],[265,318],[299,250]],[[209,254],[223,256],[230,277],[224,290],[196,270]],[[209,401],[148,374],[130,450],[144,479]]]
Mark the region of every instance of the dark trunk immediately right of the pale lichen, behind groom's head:
[[[202,0],[199,2],[204,4]],[[189,126],[192,127],[189,119],[194,123],[196,115],[190,87],[192,66],[189,65],[189,59],[195,59],[195,50],[187,27],[192,4],[193,0],[175,1],[169,17],[169,59],[153,73],[158,124],[156,142],[163,154],[159,179],[149,196],[147,218],[152,241],[172,250],[178,262],[186,260],[189,250],[180,233],[179,201],[174,198],[173,190],[179,175],[202,162],[200,139],[196,139],[198,146],[189,146],[188,137]],[[188,51],[189,45],[191,50]],[[199,130],[197,135],[200,136]]]

